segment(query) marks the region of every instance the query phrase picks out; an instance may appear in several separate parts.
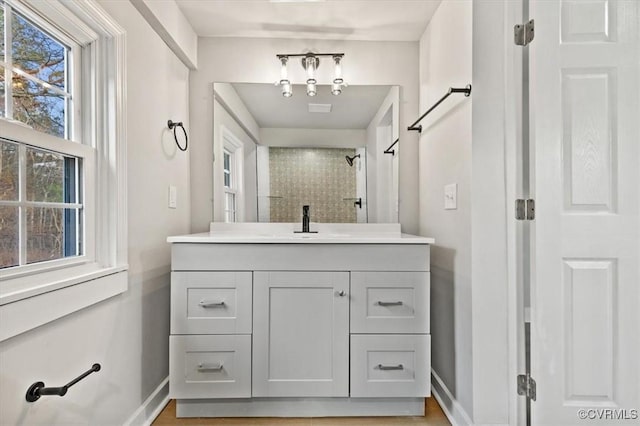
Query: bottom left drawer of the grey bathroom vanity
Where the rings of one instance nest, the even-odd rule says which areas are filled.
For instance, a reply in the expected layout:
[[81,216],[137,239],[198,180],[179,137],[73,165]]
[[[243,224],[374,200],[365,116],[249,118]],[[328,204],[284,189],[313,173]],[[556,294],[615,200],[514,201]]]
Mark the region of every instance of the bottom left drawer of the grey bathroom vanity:
[[251,397],[251,336],[170,336],[171,398]]

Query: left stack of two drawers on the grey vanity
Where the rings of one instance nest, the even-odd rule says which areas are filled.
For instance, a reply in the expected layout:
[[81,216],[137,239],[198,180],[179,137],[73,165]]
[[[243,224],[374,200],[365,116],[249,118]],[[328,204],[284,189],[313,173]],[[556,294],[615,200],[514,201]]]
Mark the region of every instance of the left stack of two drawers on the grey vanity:
[[169,393],[251,396],[251,272],[171,273]]

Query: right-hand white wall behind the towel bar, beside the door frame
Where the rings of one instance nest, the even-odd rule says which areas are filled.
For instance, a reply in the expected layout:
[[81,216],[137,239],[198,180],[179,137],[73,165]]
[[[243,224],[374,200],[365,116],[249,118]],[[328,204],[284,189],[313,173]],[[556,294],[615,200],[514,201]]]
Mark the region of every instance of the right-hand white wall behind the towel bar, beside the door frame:
[[[420,110],[472,78],[471,1],[443,2],[420,40]],[[431,362],[473,415],[471,299],[471,98],[452,95],[422,122],[420,234],[431,249]],[[402,147],[404,149],[404,146]],[[458,208],[444,210],[444,186],[458,185]],[[450,406],[450,411],[455,407]]]

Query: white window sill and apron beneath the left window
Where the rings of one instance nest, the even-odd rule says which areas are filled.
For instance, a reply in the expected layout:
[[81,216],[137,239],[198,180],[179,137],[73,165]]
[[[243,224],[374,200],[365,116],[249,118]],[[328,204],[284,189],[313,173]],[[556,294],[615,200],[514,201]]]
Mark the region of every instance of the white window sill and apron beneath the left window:
[[125,292],[126,271],[85,264],[0,282],[0,342]]

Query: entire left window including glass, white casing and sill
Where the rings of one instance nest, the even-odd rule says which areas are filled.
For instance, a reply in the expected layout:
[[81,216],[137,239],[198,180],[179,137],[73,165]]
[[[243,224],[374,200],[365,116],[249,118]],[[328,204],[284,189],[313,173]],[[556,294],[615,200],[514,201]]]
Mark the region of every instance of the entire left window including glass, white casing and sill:
[[125,60],[94,0],[0,0],[0,341],[127,289]]

